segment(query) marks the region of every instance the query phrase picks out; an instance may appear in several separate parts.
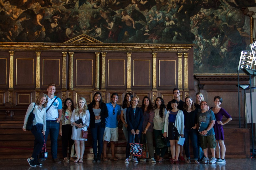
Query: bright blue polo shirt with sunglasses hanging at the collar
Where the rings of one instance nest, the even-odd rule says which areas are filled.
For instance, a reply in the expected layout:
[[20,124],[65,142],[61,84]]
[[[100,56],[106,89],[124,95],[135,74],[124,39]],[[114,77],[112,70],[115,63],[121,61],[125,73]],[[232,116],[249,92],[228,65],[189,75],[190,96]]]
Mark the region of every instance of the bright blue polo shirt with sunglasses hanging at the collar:
[[[121,114],[121,108],[118,104],[115,104],[115,108],[113,107],[112,103],[107,103],[107,111],[109,116],[106,118],[106,127],[108,128],[117,128],[117,115]],[[115,111],[114,111],[115,109]],[[115,114],[113,114],[113,111]]]

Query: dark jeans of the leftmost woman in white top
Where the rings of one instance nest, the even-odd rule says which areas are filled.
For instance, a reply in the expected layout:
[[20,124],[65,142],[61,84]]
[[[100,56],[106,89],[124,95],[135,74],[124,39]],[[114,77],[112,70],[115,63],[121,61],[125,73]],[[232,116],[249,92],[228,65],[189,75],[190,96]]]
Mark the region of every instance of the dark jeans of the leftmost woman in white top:
[[35,136],[34,150],[31,157],[34,158],[35,160],[37,160],[37,156],[42,151],[43,144],[45,143],[42,130],[43,130],[43,124],[36,124],[32,126],[32,129],[31,129],[32,134]]

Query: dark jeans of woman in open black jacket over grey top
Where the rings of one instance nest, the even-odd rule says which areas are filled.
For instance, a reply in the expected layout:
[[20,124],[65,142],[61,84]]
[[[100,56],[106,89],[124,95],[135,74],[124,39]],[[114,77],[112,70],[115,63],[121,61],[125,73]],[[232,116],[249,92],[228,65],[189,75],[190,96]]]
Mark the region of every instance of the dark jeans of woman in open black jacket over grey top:
[[103,147],[103,134],[105,128],[101,127],[101,122],[95,123],[95,128],[91,128],[91,136],[93,138],[93,153],[97,154],[97,141],[98,141],[98,153],[102,153]]

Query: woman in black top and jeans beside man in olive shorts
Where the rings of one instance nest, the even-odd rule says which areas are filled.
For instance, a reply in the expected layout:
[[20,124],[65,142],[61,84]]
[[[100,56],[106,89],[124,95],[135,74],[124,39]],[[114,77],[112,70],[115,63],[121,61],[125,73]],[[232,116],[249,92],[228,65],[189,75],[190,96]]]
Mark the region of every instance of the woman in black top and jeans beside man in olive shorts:
[[189,152],[189,138],[193,145],[193,155],[194,155],[194,163],[199,164],[198,162],[198,147],[197,147],[197,113],[198,108],[194,106],[194,102],[192,97],[188,96],[185,98],[185,103],[183,106],[184,110],[184,148],[185,154],[187,157],[186,163],[191,163],[190,160],[190,152]]

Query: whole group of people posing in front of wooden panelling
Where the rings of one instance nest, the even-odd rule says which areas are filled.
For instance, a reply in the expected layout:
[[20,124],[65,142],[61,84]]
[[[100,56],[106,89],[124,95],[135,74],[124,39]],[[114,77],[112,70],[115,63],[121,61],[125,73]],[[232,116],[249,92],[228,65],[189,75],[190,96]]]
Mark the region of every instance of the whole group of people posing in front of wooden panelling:
[[[43,145],[47,141],[50,133],[51,154],[53,162],[60,163],[57,159],[57,139],[58,134],[62,136],[62,154],[63,161],[83,162],[85,151],[85,141],[82,138],[81,129],[86,131],[90,125],[92,136],[92,147],[94,159],[93,162],[100,162],[103,152],[103,161],[108,161],[107,144],[110,142],[111,158],[117,161],[115,156],[115,142],[118,141],[118,120],[122,121],[122,130],[125,136],[126,158],[125,163],[130,161],[138,162],[137,156],[130,155],[130,143],[139,139],[142,143],[147,143],[149,158],[152,163],[162,162],[166,147],[157,148],[153,146],[153,134],[155,142],[159,135],[170,141],[170,151],[172,164],[178,164],[179,160],[185,161],[182,156],[183,147],[177,143],[178,137],[185,137],[185,154],[187,161],[191,163],[189,152],[189,138],[193,145],[194,163],[199,164],[198,160],[198,136],[200,146],[202,147],[204,158],[203,163],[225,163],[225,145],[222,125],[231,120],[231,116],[220,107],[222,98],[214,97],[214,107],[209,108],[204,101],[202,93],[196,94],[196,102],[188,96],[185,102],[180,99],[180,91],[174,88],[174,99],[165,107],[162,97],[157,97],[155,104],[151,103],[149,97],[145,96],[142,100],[141,107],[138,107],[139,97],[133,96],[130,92],[125,94],[123,104],[120,107],[117,104],[119,96],[117,93],[111,95],[111,102],[105,104],[102,101],[100,92],[96,92],[90,104],[86,103],[84,97],[77,100],[76,107],[72,99],[67,98],[62,108],[62,101],[54,96],[56,90],[55,84],[51,83],[47,88],[47,95],[41,94],[37,97],[35,103],[31,103],[27,109],[23,130],[26,131],[26,124],[30,112],[33,110],[35,118],[31,132],[35,136],[34,150],[30,158],[27,159],[30,166],[42,165],[38,161],[38,154],[41,152]],[[222,117],[227,120],[222,122]],[[77,124],[76,121],[82,119],[83,123]],[[201,122],[209,126],[206,130],[198,133]],[[45,137],[44,137],[45,135]],[[71,155],[72,145],[75,145],[76,159]],[[210,147],[212,158],[209,161],[207,155],[207,144]],[[67,148],[69,145],[69,159]],[[217,159],[215,158],[215,152]],[[155,159],[156,158],[156,159]],[[141,158],[140,161],[146,161]]]

